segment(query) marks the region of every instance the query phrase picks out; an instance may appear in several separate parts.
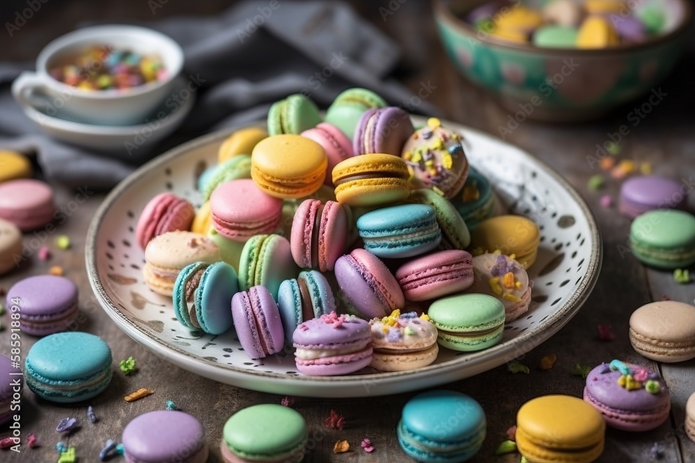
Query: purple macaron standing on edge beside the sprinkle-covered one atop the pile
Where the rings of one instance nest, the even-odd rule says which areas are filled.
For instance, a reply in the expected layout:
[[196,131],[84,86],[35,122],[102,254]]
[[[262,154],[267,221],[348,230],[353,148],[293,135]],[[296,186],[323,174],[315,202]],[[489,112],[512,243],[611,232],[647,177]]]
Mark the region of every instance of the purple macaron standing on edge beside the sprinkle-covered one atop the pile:
[[400,156],[415,128],[407,111],[389,106],[367,110],[359,119],[352,140],[355,155],[382,153]]

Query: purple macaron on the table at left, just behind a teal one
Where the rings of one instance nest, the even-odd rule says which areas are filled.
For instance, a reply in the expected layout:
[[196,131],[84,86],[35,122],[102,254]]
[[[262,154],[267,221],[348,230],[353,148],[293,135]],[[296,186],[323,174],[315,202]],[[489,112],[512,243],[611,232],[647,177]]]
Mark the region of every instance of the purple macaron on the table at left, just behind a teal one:
[[15,283],[7,293],[10,308],[19,308],[22,331],[45,336],[64,331],[75,321],[77,286],[63,276],[30,276]]

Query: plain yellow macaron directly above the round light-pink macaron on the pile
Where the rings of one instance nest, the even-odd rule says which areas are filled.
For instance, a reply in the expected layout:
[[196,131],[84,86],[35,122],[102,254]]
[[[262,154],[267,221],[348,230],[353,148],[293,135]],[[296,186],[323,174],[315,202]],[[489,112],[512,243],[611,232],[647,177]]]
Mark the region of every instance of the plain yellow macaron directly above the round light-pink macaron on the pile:
[[280,199],[315,193],[326,178],[328,159],[323,147],[301,135],[275,135],[256,144],[251,178],[263,192]]

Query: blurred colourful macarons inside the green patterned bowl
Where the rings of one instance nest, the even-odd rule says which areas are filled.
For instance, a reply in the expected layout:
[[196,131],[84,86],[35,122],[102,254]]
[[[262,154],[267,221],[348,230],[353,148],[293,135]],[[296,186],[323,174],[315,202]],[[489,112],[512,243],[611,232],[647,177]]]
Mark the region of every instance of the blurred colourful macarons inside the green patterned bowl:
[[[539,2],[536,2],[536,5]],[[664,33],[665,2],[626,0],[492,1],[466,21],[478,31],[515,44],[563,49],[605,49],[639,44]]]

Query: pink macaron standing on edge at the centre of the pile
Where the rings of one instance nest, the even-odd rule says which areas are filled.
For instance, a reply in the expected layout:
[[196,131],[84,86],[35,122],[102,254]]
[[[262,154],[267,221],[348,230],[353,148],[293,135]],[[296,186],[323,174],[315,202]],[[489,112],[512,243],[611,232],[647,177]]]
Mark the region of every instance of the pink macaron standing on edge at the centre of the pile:
[[292,257],[302,269],[333,270],[347,248],[348,206],[306,199],[292,221]]

